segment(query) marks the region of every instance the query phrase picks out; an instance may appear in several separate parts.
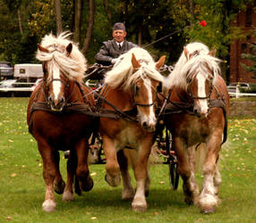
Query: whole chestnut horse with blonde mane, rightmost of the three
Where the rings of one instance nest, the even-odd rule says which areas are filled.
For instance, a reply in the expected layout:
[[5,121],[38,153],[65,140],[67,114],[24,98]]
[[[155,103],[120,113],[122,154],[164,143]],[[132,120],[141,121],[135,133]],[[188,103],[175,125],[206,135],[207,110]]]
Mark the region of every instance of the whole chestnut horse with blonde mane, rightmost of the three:
[[[214,212],[219,203],[221,175],[218,157],[226,141],[229,96],[220,76],[215,50],[194,42],[183,47],[175,69],[165,81],[163,120],[172,134],[178,174],[183,178],[185,202],[197,204],[202,213]],[[205,153],[201,193],[195,179],[192,148]]]

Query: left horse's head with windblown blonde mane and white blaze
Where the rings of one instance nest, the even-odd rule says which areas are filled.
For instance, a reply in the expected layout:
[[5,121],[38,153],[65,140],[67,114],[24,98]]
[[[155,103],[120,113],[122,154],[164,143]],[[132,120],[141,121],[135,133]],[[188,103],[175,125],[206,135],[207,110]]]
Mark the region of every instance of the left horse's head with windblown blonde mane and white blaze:
[[43,62],[44,92],[52,111],[63,111],[68,88],[73,80],[80,82],[86,70],[85,58],[67,36],[49,35],[38,45],[37,59]]

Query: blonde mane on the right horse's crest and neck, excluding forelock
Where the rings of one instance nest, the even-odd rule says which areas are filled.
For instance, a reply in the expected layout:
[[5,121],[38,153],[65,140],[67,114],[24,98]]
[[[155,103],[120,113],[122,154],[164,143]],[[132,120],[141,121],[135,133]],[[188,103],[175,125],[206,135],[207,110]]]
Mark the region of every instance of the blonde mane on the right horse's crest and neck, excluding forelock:
[[[199,42],[190,43],[190,44],[186,45],[186,48],[187,48],[189,54],[196,53],[197,56],[209,54],[208,46],[204,45],[202,43],[199,43]],[[192,57],[192,59],[193,58],[195,58],[195,57]],[[192,61],[192,59],[190,61]],[[184,50],[183,50],[183,53],[181,54],[178,62],[175,63],[175,69],[166,78],[165,87],[173,87],[173,86],[181,85],[181,84],[183,85],[183,87],[185,87],[186,81],[185,81],[185,79],[183,79],[185,77],[181,77],[181,76],[184,76],[184,75],[182,75],[182,73],[183,73],[182,70],[184,69],[184,65],[187,62],[188,62],[188,60],[187,60],[187,58],[184,54]]]

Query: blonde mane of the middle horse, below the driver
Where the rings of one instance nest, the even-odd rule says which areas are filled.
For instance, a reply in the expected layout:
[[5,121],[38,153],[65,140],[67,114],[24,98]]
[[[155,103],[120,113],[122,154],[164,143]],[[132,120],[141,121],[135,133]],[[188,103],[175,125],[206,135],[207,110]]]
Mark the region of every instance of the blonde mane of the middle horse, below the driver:
[[[132,54],[135,55],[141,67],[135,73],[132,73]],[[110,87],[124,87],[124,90],[132,86],[138,78],[152,78],[163,82],[163,76],[158,72],[155,67],[156,63],[150,54],[140,48],[132,48],[125,54],[118,57],[117,62],[112,70],[108,71],[105,77],[105,83]]]

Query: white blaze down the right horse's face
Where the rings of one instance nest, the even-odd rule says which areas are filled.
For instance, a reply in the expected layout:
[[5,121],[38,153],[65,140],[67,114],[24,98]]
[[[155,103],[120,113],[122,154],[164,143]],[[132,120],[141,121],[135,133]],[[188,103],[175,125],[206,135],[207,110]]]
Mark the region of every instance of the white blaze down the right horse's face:
[[[197,75],[198,79],[198,96],[199,97],[206,97],[206,92],[205,92],[205,81],[206,78],[199,73]],[[201,113],[202,114],[207,114],[208,112],[208,103],[207,99],[199,99],[200,107],[201,107]]]

